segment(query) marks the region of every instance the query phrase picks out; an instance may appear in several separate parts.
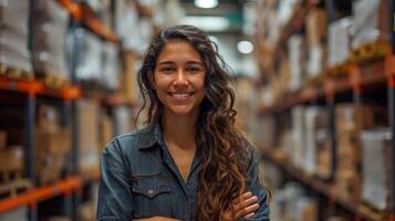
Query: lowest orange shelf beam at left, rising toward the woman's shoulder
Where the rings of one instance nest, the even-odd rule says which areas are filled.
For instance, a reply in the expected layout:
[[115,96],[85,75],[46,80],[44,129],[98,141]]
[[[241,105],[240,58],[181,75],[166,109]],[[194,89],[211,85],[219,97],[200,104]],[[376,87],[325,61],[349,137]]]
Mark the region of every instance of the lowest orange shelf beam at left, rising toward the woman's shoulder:
[[61,194],[71,194],[74,190],[82,187],[79,177],[69,177],[53,185],[32,189],[17,198],[0,201],[0,212],[12,210],[21,206],[35,206],[38,202],[51,199]]

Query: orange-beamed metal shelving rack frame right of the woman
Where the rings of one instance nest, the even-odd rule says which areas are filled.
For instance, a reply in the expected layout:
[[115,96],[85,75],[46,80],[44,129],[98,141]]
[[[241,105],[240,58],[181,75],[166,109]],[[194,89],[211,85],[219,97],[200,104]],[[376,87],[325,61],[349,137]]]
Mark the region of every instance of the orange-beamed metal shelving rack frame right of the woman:
[[[389,53],[386,54],[385,57],[376,60],[375,62],[371,62],[370,64],[358,64],[351,63],[347,69],[347,73],[340,78],[329,78],[323,82],[321,87],[316,86],[306,86],[302,88],[299,93],[285,97],[281,102],[274,104],[273,106],[261,107],[261,115],[270,115],[277,116],[279,113],[284,113],[285,110],[292,108],[295,105],[308,105],[312,103],[316,103],[319,99],[324,101],[328,115],[329,115],[329,128],[331,134],[332,141],[332,169],[335,171],[335,156],[336,156],[336,133],[335,133],[335,106],[340,102],[337,101],[337,96],[350,94],[352,95],[351,102],[354,104],[360,104],[364,99],[364,92],[368,88],[377,88],[377,85],[381,88],[387,88],[387,105],[388,105],[388,119],[389,127],[392,129],[392,143],[391,143],[391,164],[392,164],[392,173],[391,173],[391,203],[388,214],[385,217],[385,221],[395,221],[395,11],[394,11],[394,1],[387,0],[388,10],[391,10],[391,30],[392,30],[392,41],[388,46],[392,48]],[[310,1],[306,9],[309,9],[313,1]],[[316,2],[315,2],[316,3]],[[332,0],[324,0],[326,4],[326,12],[329,17],[329,22],[337,19],[335,14],[335,2]],[[314,6],[314,4],[313,4]],[[288,28],[281,34],[281,36],[290,36],[291,32],[295,32],[300,30],[302,24],[294,22],[293,28]],[[281,41],[285,41],[287,38],[281,39]],[[279,49],[278,49],[279,50]],[[370,74],[371,73],[371,74]],[[336,194],[335,186],[330,179],[330,182],[325,182],[322,180],[318,180],[316,178],[305,175],[300,169],[290,166],[284,161],[283,158],[279,158],[276,152],[271,148],[263,148],[263,159],[267,159],[269,162],[276,165],[280,168],[285,175],[292,177],[304,186],[311,188],[315,192],[321,193],[329,200],[330,210],[333,214],[335,214],[335,207],[340,207],[345,209],[350,213],[354,214],[355,220],[366,220],[366,221],[375,221],[382,220],[382,217],[377,217],[377,214],[372,214],[364,210],[360,204],[355,202],[351,202],[341,198],[341,196]]]

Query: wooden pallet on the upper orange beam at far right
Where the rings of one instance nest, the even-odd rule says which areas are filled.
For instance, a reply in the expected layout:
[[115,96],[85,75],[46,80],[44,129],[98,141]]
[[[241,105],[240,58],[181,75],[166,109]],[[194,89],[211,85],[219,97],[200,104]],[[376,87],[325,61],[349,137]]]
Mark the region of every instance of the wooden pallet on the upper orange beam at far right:
[[355,63],[363,63],[386,56],[391,52],[388,42],[377,41],[366,43],[351,51],[350,57]]

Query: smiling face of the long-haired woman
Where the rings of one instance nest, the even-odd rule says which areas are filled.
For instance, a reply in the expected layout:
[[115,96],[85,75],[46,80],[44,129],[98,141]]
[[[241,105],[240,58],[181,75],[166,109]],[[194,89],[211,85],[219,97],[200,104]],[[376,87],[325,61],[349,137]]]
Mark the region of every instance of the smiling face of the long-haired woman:
[[156,94],[165,113],[196,116],[205,97],[206,67],[199,53],[187,41],[165,44],[153,74]]

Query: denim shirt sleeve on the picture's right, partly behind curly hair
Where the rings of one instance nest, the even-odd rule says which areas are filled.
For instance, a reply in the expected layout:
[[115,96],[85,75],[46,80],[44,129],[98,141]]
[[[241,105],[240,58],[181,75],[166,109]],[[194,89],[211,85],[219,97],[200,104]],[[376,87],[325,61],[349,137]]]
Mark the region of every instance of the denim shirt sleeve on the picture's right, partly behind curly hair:
[[247,180],[247,190],[251,191],[252,194],[258,197],[259,209],[254,211],[254,215],[250,219],[240,219],[240,221],[269,221],[269,206],[268,206],[268,194],[267,189],[262,187],[261,179],[259,178],[259,161],[260,154],[259,151],[251,147],[252,159],[250,167],[248,169],[248,180]]

